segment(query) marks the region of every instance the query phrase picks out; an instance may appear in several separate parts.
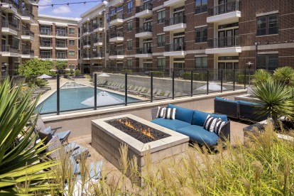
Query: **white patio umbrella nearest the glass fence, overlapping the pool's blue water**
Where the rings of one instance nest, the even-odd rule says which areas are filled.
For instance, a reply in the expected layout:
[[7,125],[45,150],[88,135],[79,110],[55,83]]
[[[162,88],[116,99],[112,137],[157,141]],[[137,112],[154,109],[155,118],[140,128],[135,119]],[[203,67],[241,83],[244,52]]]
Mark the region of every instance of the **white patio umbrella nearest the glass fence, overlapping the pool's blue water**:
[[[97,107],[99,106],[106,106],[111,104],[122,104],[124,101],[117,97],[112,96],[107,92],[99,92],[97,93]],[[87,105],[89,107],[94,107],[94,96],[89,97],[81,102],[81,104]]]

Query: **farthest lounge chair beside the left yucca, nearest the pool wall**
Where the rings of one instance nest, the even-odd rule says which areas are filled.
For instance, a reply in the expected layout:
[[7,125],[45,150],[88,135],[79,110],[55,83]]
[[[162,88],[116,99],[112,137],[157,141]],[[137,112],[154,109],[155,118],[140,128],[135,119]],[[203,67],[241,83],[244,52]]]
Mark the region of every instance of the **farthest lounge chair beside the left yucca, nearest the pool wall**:
[[[58,136],[61,143],[67,141],[68,136],[70,136],[70,130],[62,131],[58,134],[55,134],[55,131],[59,128],[52,129],[51,126],[46,127],[43,120],[38,116],[37,124],[36,124],[37,131],[40,131],[40,134],[51,134],[52,136]],[[52,130],[55,130],[52,132]]]

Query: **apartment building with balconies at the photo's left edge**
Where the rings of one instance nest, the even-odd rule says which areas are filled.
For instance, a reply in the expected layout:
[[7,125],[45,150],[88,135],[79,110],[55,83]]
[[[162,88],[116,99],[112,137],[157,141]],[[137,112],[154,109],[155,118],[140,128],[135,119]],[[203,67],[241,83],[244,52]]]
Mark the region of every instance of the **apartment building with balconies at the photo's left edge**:
[[33,29],[38,20],[38,1],[2,0],[0,77],[14,75],[18,65],[34,58],[33,41],[36,35]]

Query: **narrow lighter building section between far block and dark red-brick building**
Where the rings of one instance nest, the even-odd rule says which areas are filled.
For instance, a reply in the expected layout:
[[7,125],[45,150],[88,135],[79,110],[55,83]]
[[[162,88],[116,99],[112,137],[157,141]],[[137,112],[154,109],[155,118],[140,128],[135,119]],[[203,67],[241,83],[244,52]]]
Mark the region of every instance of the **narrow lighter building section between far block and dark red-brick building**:
[[105,11],[104,4],[94,6],[81,16],[79,26],[80,69],[97,71],[105,65]]

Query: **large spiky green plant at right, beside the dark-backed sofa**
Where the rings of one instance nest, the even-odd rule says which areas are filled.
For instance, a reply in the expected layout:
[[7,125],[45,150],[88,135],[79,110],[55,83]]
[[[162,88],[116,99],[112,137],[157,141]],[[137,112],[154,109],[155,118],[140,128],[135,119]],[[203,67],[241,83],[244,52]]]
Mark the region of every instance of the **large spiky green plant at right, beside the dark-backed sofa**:
[[273,121],[277,122],[278,117],[287,116],[293,119],[294,99],[293,93],[289,87],[281,82],[266,81],[254,87],[254,96],[258,98],[261,104],[258,114],[270,114]]

